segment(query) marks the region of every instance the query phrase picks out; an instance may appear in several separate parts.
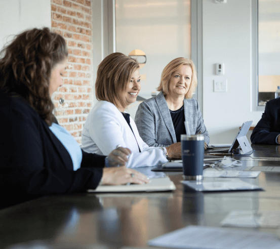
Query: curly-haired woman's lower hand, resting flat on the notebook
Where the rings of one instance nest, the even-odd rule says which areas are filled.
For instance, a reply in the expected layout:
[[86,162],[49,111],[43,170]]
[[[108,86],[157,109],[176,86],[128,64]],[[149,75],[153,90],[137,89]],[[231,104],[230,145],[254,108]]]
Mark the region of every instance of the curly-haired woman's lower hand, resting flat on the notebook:
[[148,182],[149,180],[145,175],[125,166],[103,169],[102,185],[144,184]]

